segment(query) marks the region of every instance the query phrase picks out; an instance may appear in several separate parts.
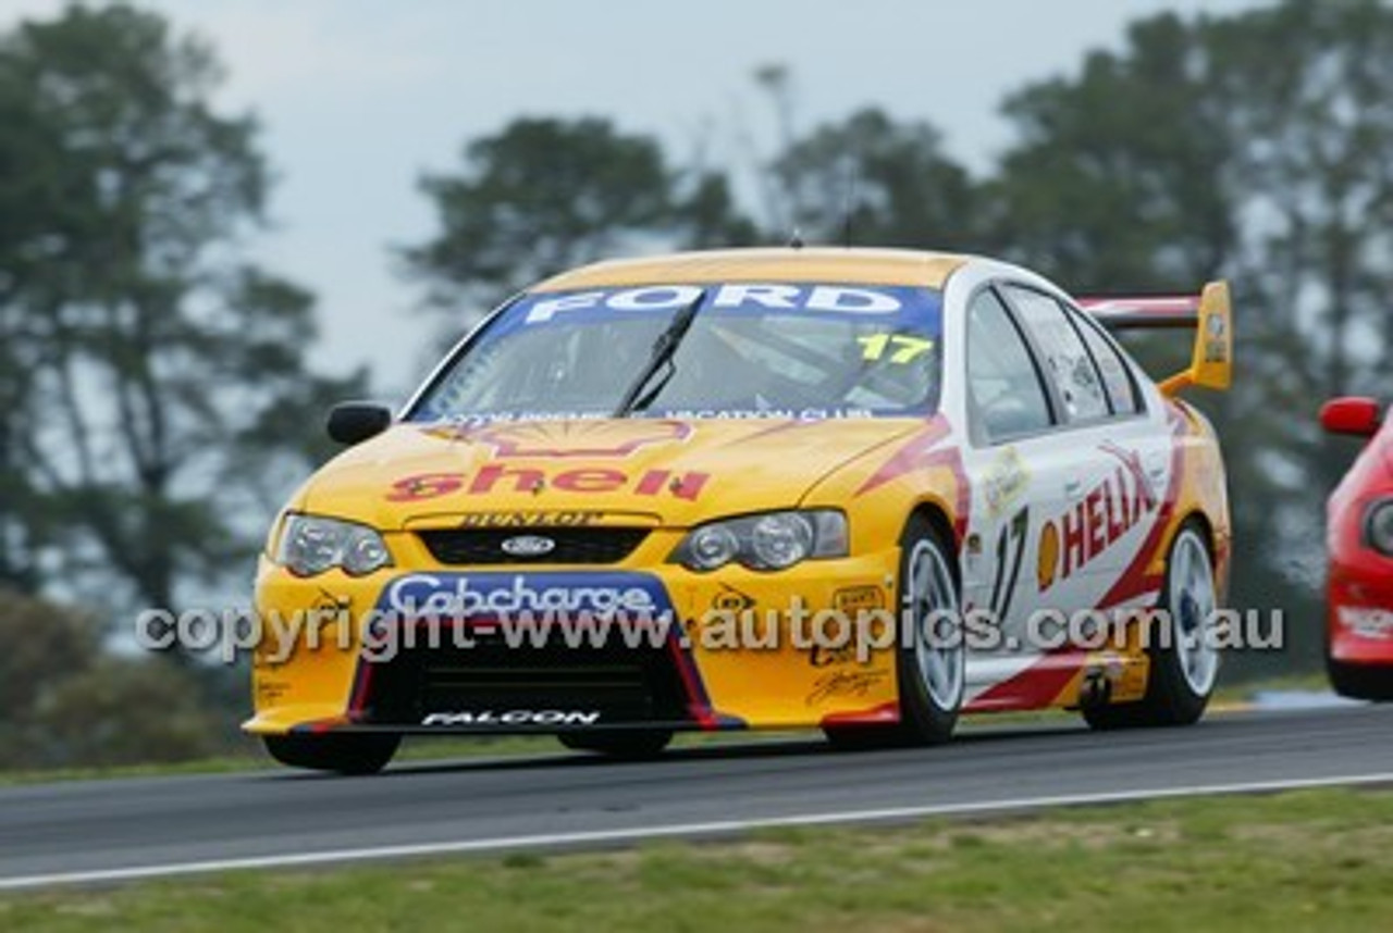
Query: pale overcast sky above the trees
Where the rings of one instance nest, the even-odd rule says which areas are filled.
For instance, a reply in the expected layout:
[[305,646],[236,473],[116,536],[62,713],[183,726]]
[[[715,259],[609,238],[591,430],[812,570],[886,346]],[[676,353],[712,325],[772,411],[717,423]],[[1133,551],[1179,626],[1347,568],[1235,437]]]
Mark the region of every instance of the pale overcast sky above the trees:
[[[772,139],[751,72],[788,65],[808,127],[876,104],[937,125],[990,168],[996,109],[1022,84],[1071,74],[1126,24],[1162,10],[1226,14],[1255,0],[153,0],[228,70],[279,175],[259,256],[319,295],[323,370],[371,362],[386,394],[422,372],[433,322],[390,246],[433,231],[423,170],[520,114],[603,114],[674,156],[734,157],[737,125]],[[53,15],[0,0],[0,28]],[[525,283],[520,283],[525,284]]]

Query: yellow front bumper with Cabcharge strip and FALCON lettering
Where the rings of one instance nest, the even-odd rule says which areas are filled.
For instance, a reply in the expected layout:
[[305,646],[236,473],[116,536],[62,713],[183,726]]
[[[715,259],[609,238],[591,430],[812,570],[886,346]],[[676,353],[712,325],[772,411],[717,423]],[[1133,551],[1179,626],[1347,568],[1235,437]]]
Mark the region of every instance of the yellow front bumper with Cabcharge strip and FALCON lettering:
[[[305,579],[263,558],[256,609],[265,635],[244,730],[507,734],[897,720],[893,627],[887,641],[883,622],[893,618],[898,547],[777,572],[695,574],[652,560],[670,546],[613,567],[421,561],[362,578]],[[624,606],[656,611],[606,622],[577,610],[568,593],[628,593]],[[547,616],[539,604],[560,609]],[[493,611],[499,606],[507,611]],[[538,628],[547,632],[540,648]]]

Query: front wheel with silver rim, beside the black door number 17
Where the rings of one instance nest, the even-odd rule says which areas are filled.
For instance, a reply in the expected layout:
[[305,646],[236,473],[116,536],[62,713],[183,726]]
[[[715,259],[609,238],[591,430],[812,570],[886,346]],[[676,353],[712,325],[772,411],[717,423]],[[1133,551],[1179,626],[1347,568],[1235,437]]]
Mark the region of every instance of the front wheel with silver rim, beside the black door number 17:
[[896,600],[903,628],[912,632],[896,650],[900,723],[823,730],[834,746],[939,745],[953,735],[967,681],[960,593],[951,547],[926,518],[912,515],[900,538]]

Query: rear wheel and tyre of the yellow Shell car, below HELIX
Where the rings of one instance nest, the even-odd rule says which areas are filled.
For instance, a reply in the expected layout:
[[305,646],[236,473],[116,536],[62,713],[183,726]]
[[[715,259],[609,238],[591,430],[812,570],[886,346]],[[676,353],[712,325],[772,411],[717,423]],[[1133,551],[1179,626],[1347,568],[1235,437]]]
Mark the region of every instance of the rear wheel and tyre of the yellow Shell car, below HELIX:
[[1098,730],[1190,726],[1199,720],[1219,674],[1219,649],[1211,627],[1219,607],[1213,557],[1197,522],[1185,522],[1170,543],[1158,609],[1169,632],[1151,632],[1146,693],[1134,703],[1085,706]]

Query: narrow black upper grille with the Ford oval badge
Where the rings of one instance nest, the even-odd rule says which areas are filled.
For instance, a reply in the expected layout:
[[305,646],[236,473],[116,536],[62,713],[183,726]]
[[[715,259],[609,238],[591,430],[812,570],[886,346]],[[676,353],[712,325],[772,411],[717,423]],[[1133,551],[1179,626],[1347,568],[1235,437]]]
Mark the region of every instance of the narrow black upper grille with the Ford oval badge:
[[[419,532],[442,564],[617,564],[648,538],[646,528],[437,528]],[[538,536],[554,542],[545,554],[510,554],[503,542]]]

